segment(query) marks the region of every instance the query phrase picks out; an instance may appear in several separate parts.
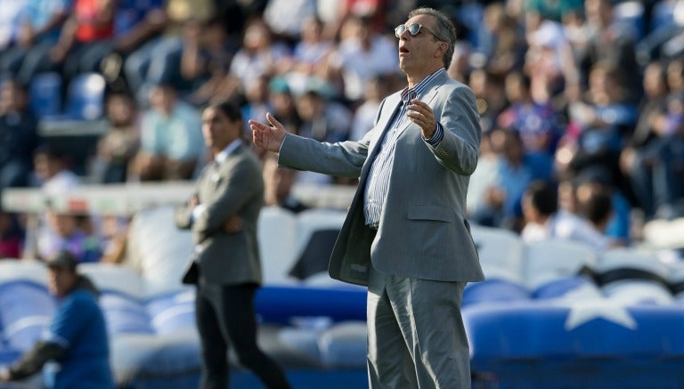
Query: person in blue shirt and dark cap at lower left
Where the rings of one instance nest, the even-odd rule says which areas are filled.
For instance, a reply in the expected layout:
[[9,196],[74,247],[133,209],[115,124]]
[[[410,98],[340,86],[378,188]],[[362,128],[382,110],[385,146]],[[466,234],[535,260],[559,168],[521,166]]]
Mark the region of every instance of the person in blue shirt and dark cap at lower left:
[[54,388],[113,389],[107,328],[93,282],[77,272],[68,251],[58,251],[47,262],[47,286],[58,299],[50,327],[9,369],[0,370],[0,383],[30,377],[48,361],[60,369]]

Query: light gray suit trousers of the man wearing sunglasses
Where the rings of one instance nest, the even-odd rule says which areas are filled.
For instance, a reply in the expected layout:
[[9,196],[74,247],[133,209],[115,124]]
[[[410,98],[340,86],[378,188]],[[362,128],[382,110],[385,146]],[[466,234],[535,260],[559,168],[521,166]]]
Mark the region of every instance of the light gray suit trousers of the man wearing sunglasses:
[[460,316],[465,286],[385,275],[371,267],[371,389],[470,387],[468,338]]

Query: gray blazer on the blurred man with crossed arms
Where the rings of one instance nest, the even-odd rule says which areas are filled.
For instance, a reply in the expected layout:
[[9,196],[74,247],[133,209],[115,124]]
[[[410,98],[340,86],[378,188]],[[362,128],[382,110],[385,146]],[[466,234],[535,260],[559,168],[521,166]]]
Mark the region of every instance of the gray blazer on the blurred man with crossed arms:
[[[196,195],[206,211],[192,221],[192,208],[178,207],[175,224],[192,231],[196,253],[191,260],[199,264],[199,278],[219,284],[260,284],[256,222],[264,205],[264,181],[254,153],[240,145],[220,166],[205,166]],[[240,216],[242,229],[228,234],[223,223],[232,215]]]

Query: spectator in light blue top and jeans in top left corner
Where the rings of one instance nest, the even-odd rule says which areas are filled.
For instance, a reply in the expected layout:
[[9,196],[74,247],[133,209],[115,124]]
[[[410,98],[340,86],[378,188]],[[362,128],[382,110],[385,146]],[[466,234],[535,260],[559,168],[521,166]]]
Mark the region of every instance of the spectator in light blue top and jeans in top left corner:
[[48,53],[57,43],[71,12],[71,0],[29,0],[20,14],[16,45],[0,54],[0,73],[29,85],[40,71],[51,70]]

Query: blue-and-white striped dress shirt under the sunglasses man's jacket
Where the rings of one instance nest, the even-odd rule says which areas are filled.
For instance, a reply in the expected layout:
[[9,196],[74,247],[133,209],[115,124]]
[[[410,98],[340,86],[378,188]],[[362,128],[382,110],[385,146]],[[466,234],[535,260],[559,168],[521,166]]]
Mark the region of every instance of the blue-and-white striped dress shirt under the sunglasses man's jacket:
[[[439,69],[435,73],[425,77],[418,85],[414,85],[411,89],[407,87],[402,91],[402,104],[395,113],[394,118],[392,118],[389,129],[380,144],[378,155],[372,162],[371,171],[369,172],[368,181],[366,182],[363,214],[366,225],[371,226],[373,229],[378,229],[382,207],[387,198],[389,176],[392,174],[392,165],[395,160],[396,139],[400,134],[399,128],[402,128],[404,120],[409,120],[409,118],[406,118],[406,107],[411,104],[411,100],[415,99],[425,90],[425,87],[435,77],[445,71],[445,69]],[[433,134],[430,139],[423,138],[423,141],[436,146],[443,138],[444,128],[439,122],[436,122],[435,134]]]

